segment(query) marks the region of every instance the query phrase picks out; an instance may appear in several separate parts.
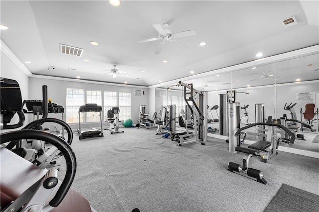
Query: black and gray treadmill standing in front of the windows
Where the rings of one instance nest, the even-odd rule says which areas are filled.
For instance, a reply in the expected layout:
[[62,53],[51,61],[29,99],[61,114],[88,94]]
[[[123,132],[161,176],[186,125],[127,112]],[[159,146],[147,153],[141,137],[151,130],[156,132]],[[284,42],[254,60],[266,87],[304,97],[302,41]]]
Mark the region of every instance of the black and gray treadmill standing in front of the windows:
[[[100,113],[100,123],[101,130],[96,128],[90,128],[87,130],[81,130],[81,112],[99,112]],[[98,106],[97,104],[86,104],[84,106],[80,106],[79,108],[79,139],[90,138],[90,137],[103,137],[103,127],[102,127],[102,106]]]

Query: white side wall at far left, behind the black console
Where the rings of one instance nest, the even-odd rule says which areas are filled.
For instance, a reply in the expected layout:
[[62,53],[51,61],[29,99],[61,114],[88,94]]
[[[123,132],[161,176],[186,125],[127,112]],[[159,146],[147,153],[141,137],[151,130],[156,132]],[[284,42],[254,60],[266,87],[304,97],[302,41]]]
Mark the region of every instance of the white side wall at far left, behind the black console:
[[[22,101],[29,98],[29,77],[18,67],[8,56],[1,51],[1,71],[0,76],[16,80],[20,86]],[[18,117],[15,115],[12,119],[12,123],[18,122]],[[29,119],[26,117],[25,123],[28,123]]]

